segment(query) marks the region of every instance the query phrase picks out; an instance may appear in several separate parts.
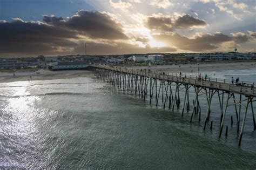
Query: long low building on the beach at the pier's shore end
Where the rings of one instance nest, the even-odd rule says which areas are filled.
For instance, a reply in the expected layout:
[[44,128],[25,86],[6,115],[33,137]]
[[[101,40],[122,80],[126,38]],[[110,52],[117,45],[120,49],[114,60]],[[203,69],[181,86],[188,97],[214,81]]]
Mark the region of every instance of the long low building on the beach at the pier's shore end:
[[82,62],[59,62],[57,65],[53,65],[51,70],[79,70],[86,69],[89,64]]

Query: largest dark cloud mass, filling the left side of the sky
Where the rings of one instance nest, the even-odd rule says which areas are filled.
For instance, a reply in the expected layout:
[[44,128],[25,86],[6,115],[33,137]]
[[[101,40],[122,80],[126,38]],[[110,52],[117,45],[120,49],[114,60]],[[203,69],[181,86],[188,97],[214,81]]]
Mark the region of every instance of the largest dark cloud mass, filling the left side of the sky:
[[62,17],[43,16],[42,22],[0,21],[1,55],[57,55],[77,46],[71,39],[79,35],[93,39],[127,39],[122,25],[100,12],[78,11],[77,15]]

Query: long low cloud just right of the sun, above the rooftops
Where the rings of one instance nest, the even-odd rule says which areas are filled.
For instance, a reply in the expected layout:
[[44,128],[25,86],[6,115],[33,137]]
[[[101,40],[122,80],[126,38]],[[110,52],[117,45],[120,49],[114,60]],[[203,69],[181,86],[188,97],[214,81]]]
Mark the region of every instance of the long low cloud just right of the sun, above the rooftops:
[[217,44],[231,40],[231,37],[223,33],[206,34],[194,38],[187,38],[177,33],[172,33],[170,35],[154,35],[154,38],[174,45],[178,49],[189,51],[214,50],[218,48]]

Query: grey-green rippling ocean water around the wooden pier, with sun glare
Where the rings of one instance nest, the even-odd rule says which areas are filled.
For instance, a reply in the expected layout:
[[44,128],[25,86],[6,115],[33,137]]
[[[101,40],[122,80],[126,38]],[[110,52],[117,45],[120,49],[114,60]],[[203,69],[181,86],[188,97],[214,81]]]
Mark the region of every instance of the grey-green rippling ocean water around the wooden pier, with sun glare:
[[[215,76],[256,78],[249,69]],[[182,105],[182,91],[180,96]],[[199,101],[201,122],[195,115],[190,123],[191,112],[182,118],[182,106],[163,109],[159,99],[156,107],[149,96],[144,101],[96,78],[0,83],[0,168],[255,169],[251,109],[239,147],[234,107],[225,118],[228,135],[224,128],[219,139],[218,98],[212,130],[209,124],[203,130],[206,98]]]

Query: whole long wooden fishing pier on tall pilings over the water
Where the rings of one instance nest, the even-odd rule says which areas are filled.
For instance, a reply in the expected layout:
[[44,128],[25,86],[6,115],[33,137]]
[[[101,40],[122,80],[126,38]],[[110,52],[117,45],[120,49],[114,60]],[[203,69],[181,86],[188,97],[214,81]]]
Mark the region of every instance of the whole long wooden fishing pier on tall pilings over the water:
[[[112,86],[118,87],[125,92],[138,94],[142,99],[149,99],[150,104],[155,100],[156,106],[159,104],[159,98],[164,108],[174,110],[174,107],[181,108],[181,116],[184,112],[190,114],[190,122],[196,121],[195,115],[201,121],[204,116],[204,130],[210,125],[212,130],[213,121],[211,120],[212,99],[215,97],[219,103],[219,138],[223,133],[224,122],[228,108],[231,106],[234,110],[234,116],[237,120],[237,133],[239,137],[238,145],[241,145],[242,134],[245,127],[246,116],[248,112],[252,114],[253,130],[256,129],[253,103],[256,97],[256,88],[254,83],[239,82],[238,85],[232,85],[225,79],[201,78],[177,74],[160,74],[147,70],[132,70],[110,66],[90,65],[89,69],[95,71],[98,79],[106,81]],[[180,93],[183,91],[183,93]],[[191,94],[193,93],[193,102]],[[207,110],[201,114],[199,97],[204,96],[207,100]],[[182,101],[181,101],[182,100]],[[217,107],[217,106],[214,106]],[[250,110],[250,111],[248,111]],[[226,120],[227,121],[227,120]],[[233,125],[233,116],[231,116],[231,125]],[[226,126],[226,133],[228,126]]]

